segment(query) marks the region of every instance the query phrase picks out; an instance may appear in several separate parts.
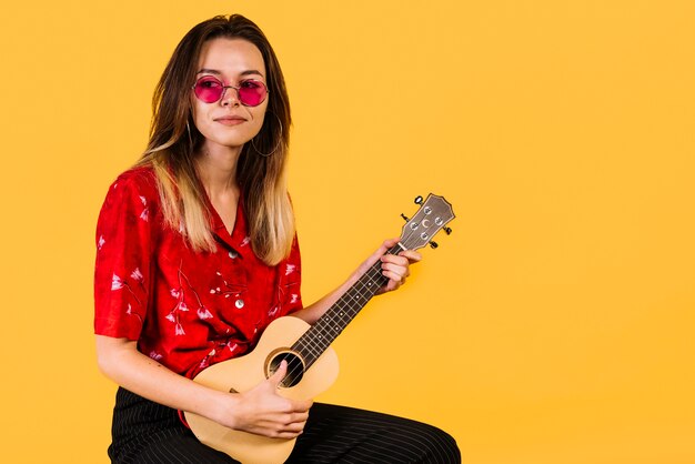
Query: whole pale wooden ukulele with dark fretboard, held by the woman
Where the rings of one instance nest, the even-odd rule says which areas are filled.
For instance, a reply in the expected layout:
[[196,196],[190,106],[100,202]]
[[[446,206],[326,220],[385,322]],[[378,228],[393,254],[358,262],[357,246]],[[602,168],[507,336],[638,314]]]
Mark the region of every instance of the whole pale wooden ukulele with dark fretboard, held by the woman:
[[[451,233],[445,225],[455,216],[443,196],[430,194],[424,202],[417,196],[415,203],[420,209],[412,219],[401,214],[407,222],[399,243],[386,253],[417,250],[427,243],[436,248],[432,238],[442,229]],[[219,391],[241,393],[270,377],[284,360],[288,373],[278,394],[292,400],[313,399],[338,377],[338,356],[331,343],[387,281],[381,262],[376,261],[313,325],[299,317],[279,317],[268,325],[252,352],[213,364],[193,381]],[[198,440],[242,463],[282,463],[292,453],[296,440],[270,438],[225,427],[198,414],[185,412],[184,415]]]

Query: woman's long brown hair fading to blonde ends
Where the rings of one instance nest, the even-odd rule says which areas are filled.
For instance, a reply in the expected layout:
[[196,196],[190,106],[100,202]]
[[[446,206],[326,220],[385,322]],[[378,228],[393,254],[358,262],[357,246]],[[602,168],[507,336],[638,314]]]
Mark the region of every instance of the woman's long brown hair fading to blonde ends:
[[219,16],[183,37],[154,90],[150,141],[135,165],[152,167],[167,224],[180,230],[193,250],[214,251],[211,211],[195,170],[195,153],[204,138],[193,123],[191,87],[203,44],[218,38],[253,43],[265,63],[268,109],[253,143],[245,143],[239,155],[236,183],[253,252],[268,265],[275,265],[289,255],[294,238],[285,173],[292,119],[280,63],[255,23],[240,14]]

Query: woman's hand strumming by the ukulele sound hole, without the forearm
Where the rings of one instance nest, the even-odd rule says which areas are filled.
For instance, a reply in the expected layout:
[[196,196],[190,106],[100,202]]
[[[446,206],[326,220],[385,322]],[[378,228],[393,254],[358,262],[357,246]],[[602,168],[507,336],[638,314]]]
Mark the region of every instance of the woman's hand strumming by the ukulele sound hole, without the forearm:
[[248,392],[224,393],[229,406],[220,411],[215,421],[230,428],[273,438],[299,436],[313,402],[289,400],[278,394],[278,385],[286,372],[288,363],[283,361],[273,375]]

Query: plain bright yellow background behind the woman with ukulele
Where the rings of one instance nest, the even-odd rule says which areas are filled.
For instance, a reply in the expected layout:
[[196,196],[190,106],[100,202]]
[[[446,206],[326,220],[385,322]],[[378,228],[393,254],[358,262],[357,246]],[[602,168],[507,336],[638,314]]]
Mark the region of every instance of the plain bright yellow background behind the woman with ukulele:
[[686,0],[3,3],[1,462],[107,462],[94,222],[173,48],[230,12],[288,80],[308,302],[415,195],[457,215],[320,400],[434,423],[466,463],[695,462]]

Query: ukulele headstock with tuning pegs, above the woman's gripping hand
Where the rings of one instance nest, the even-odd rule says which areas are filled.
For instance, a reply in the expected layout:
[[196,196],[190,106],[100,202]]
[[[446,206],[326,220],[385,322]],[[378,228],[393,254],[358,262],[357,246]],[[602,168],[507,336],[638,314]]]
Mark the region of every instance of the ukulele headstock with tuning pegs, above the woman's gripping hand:
[[403,225],[401,244],[407,250],[417,250],[427,243],[436,248],[432,239],[442,229],[447,234],[451,233],[451,229],[446,228],[446,224],[456,218],[454,210],[451,203],[444,200],[444,196],[432,193],[427,195],[424,202],[422,196],[417,196],[415,203],[420,204],[420,210],[411,219],[403,216],[407,222]]

